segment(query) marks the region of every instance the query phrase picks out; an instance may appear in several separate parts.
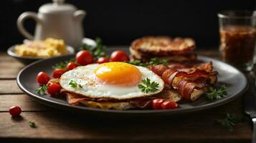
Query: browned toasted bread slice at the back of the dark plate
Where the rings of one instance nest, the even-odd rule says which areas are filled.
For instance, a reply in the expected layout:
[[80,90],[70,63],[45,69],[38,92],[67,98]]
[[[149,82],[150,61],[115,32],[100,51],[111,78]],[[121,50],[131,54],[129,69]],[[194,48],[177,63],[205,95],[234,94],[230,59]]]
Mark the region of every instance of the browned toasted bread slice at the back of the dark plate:
[[131,45],[133,52],[138,54],[150,54],[154,56],[169,56],[173,54],[186,54],[195,48],[195,41],[191,38],[169,36],[146,36],[136,39]]

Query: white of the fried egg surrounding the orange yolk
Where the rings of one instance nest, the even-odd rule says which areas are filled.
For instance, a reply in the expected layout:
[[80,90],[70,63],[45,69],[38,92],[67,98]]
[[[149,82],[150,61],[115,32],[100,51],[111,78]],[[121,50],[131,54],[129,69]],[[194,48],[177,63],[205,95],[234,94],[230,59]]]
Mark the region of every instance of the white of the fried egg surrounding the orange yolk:
[[[136,66],[141,72],[141,79],[148,78],[151,82],[157,82],[159,84],[157,92],[149,92],[146,94],[142,92],[141,89],[138,89],[138,85],[128,87],[104,84],[103,82],[100,82],[94,74],[94,70],[98,65],[99,64],[89,64],[87,66],[78,66],[75,69],[65,72],[65,74],[62,74],[60,77],[61,87],[69,92],[75,92],[76,94],[81,94],[85,97],[119,100],[148,97],[153,94],[158,94],[163,90],[164,82],[161,77],[158,77],[158,75],[153,73],[153,71],[142,66]],[[71,87],[69,85],[71,80],[80,84],[82,88]],[[141,82],[138,84],[141,84]]]

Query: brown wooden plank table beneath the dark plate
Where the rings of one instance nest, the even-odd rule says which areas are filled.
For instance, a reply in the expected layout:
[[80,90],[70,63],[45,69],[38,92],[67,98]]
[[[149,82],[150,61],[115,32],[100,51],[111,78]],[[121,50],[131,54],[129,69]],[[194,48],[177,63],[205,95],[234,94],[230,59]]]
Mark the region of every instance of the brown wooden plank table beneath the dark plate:
[[[199,54],[218,58],[217,50]],[[216,123],[226,113],[245,116],[242,97],[222,107],[182,117],[161,119],[91,119],[46,107],[24,94],[16,74],[24,65],[0,53],[0,142],[250,142],[250,121],[228,132]],[[32,77],[34,78],[34,77]],[[12,118],[9,107],[22,107],[22,116]],[[29,127],[33,121],[37,128]]]

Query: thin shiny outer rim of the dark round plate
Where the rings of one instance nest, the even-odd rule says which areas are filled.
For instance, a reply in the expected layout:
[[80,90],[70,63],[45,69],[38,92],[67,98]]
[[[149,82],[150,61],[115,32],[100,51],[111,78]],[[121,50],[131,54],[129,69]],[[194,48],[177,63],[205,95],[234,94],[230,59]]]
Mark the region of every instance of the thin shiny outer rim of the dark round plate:
[[[115,49],[115,48],[113,48]],[[97,109],[97,108],[91,108],[91,107],[80,107],[80,106],[72,106],[70,104],[67,103],[61,103],[61,102],[57,102],[51,99],[45,99],[44,97],[40,97],[37,94],[33,94],[32,92],[29,92],[27,89],[25,89],[22,86],[22,83],[20,81],[21,78],[21,74],[30,66],[33,66],[34,64],[37,64],[39,62],[42,61],[47,61],[47,60],[53,60],[53,59],[58,59],[58,58],[62,58],[64,56],[72,56],[75,54],[69,54],[69,55],[63,55],[63,56],[57,56],[57,57],[52,57],[49,59],[41,59],[39,61],[35,61],[32,64],[29,64],[27,66],[25,66],[21,71],[19,71],[19,73],[17,74],[16,77],[16,83],[18,85],[18,87],[20,89],[22,89],[22,91],[27,94],[29,97],[32,97],[33,99],[36,99],[38,102],[42,103],[42,104],[46,104],[50,107],[54,107],[54,104],[56,105],[56,107],[54,108],[58,108],[58,109],[63,109],[63,107],[65,109],[75,109],[75,110],[81,110],[82,112],[100,112],[100,113],[115,113],[115,114],[184,114],[184,113],[189,113],[189,112],[196,112],[196,111],[201,111],[204,109],[212,109],[214,107],[219,107],[223,104],[227,104],[228,102],[232,102],[234,99],[236,99],[237,97],[240,97],[242,94],[244,94],[248,88],[248,82],[247,82],[247,78],[245,77],[245,74],[242,73],[242,71],[240,71],[239,69],[237,69],[236,67],[224,63],[223,61],[220,61],[218,59],[212,59],[211,57],[208,56],[198,56],[199,59],[209,59],[211,61],[217,61],[217,62],[221,62],[222,64],[226,64],[228,66],[232,66],[232,68],[234,68],[235,70],[237,70],[239,72],[239,74],[242,76],[243,79],[245,79],[245,87],[242,88],[242,90],[240,92],[238,92],[237,94],[232,94],[229,97],[226,97],[223,100],[217,100],[208,104],[202,104],[193,108],[189,108],[189,109],[182,109],[182,108],[177,108],[177,109],[167,109],[167,110],[115,110],[115,109]]]

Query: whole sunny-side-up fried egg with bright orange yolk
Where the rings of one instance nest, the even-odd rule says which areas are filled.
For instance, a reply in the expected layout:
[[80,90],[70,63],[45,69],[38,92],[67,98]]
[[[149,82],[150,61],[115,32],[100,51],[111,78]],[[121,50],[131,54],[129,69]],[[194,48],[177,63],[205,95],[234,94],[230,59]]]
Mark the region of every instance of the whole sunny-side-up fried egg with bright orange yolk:
[[[142,80],[146,78],[158,83],[156,92],[145,93],[138,88],[138,84],[142,84]],[[72,87],[70,82],[79,86]],[[60,85],[69,92],[85,97],[122,100],[158,94],[163,90],[164,82],[146,67],[124,62],[108,62],[78,66],[67,71],[60,77]]]

